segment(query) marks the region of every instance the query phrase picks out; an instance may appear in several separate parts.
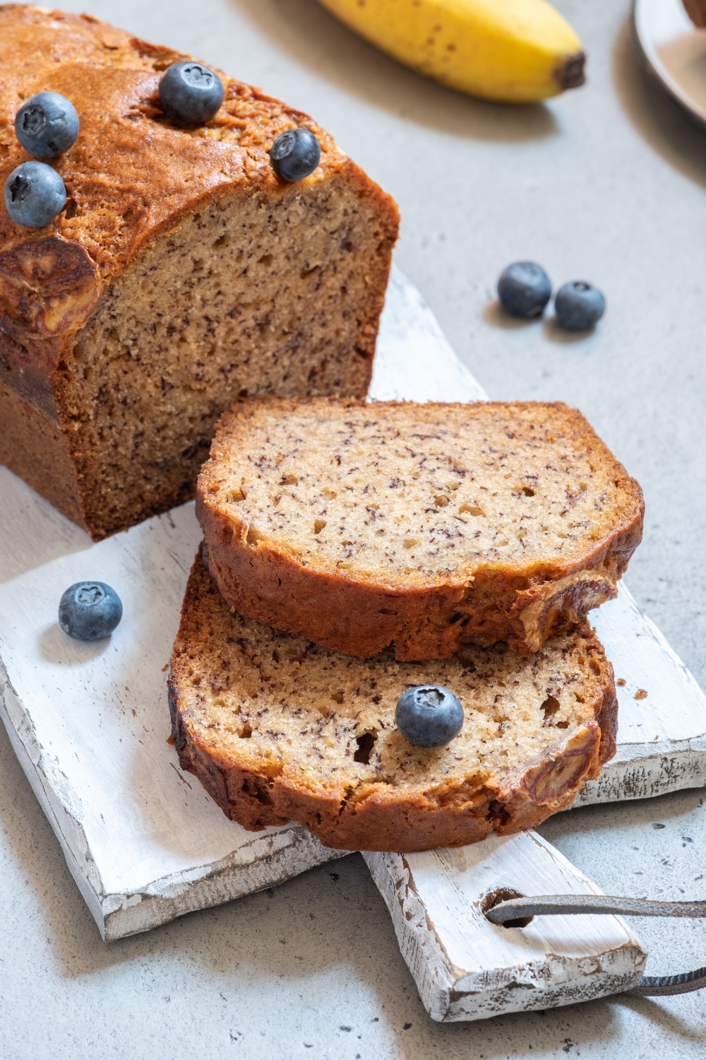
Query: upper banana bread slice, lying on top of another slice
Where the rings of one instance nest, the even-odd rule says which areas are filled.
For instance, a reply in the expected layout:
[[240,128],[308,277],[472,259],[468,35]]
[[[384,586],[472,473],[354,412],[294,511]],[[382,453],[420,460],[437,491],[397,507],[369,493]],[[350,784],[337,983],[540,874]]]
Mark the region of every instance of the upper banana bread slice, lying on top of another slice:
[[616,595],[642,495],[562,404],[247,401],[197,491],[236,611],[367,657],[521,655]]

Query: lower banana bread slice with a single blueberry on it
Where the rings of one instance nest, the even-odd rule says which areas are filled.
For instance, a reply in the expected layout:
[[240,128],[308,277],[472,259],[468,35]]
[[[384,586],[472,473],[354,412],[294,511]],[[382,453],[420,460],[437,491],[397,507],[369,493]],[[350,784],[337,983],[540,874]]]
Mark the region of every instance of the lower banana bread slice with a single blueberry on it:
[[[395,727],[400,694],[450,688],[464,706],[446,747]],[[200,556],[171,655],[179,760],[227,816],[286,819],[343,850],[424,850],[509,834],[567,806],[615,753],[613,668],[583,623],[530,659],[506,646],[397,662],[338,655],[224,602]]]

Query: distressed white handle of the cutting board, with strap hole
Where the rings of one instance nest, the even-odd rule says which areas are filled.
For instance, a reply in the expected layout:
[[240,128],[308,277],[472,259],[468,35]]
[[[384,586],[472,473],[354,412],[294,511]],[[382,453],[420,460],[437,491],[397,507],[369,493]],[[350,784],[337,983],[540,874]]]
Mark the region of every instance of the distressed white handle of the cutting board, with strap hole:
[[647,953],[620,917],[491,924],[483,899],[601,891],[536,832],[424,853],[366,853],[397,940],[433,1020],[482,1020],[629,990]]

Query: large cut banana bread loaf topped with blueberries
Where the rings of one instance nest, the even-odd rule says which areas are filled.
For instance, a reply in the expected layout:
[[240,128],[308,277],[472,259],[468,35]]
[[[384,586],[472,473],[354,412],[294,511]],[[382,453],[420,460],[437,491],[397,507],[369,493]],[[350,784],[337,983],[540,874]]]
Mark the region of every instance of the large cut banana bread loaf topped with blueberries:
[[[238,394],[366,393],[397,209],[310,118],[219,74],[179,127],[160,77],[188,56],[88,15],[0,7],[0,187],[29,159],[14,119],[53,91],[80,131],[51,164],[46,228],[0,200],[0,462],[94,538],[193,496]],[[269,148],[302,127],[304,180]]]

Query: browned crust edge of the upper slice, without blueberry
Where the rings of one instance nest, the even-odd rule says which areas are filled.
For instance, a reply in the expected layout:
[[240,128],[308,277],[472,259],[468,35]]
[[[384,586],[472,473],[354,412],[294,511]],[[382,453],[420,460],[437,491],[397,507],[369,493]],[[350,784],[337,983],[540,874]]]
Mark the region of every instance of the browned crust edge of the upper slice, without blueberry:
[[[236,403],[223,414],[203,465],[197,491],[197,516],[207,544],[206,562],[220,591],[240,614],[274,629],[302,633],[314,643],[366,658],[392,641],[400,660],[450,658],[460,643],[490,646],[506,641],[520,655],[538,651],[546,638],[576,628],[586,613],[616,596],[616,582],[642,534],[644,502],[639,484],[627,474],[583,417],[561,403],[486,403],[473,406],[376,403],[374,412],[432,417],[458,413],[508,419],[536,411],[554,428],[565,429],[577,449],[591,454],[602,480],[622,497],[619,512],[602,519],[600,533],[586,535],[569,561],[548,551],[524,562],[482,561],[447,579],[419,584],[401,571],[384,579],[351,576],[332,564],[316,566],[280,538],[258,533],[253,541],[237,506],[223,505],[219,489],[231,452],[249,452],[248,421],[253,410],[283,420],[293,411],[321,409],[345,420],[351,402],[295,402],[277,399]],[[518,426],[518,432],[520,426]],[[259,452],[259,450],[258,450]],[[232,462],[232,461],[231,461]],[[238,471],[240,464],[238,464]],[[541,470],[541,469],[540,469]],[[507,476],[506,476],[507,477]],[[230,481],[230,480],[229,480]],[[451,508],[448,509],[451,511]],[[469,576],[470,578],[469,581]]]

